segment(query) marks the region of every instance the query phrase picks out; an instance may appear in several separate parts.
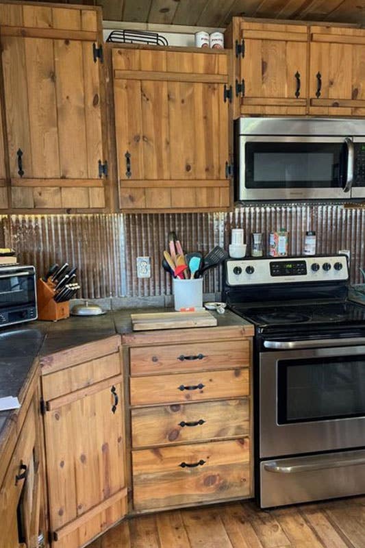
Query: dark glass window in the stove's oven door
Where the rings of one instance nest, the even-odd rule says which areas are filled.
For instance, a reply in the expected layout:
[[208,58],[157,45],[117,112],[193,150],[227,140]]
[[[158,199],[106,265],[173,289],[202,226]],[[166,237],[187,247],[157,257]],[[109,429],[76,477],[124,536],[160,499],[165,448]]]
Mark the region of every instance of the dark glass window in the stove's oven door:
[[365,356],[277,362],[279,424],[365,416]]

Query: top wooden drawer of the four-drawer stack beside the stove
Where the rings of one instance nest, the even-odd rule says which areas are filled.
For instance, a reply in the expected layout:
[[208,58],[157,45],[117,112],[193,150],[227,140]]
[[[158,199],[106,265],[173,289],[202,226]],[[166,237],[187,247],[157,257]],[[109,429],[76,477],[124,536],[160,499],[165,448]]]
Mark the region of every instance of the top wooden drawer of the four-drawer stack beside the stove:
[[131,348],[130,364],[132,376],[248,367],[250,342],[242,339]]

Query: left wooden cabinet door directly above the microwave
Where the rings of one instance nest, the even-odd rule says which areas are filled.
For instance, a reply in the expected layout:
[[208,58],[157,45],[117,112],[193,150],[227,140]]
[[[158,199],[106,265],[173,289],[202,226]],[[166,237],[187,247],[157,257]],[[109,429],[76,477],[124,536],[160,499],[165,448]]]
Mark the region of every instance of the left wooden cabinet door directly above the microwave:
[[305,114],[307,27],[241,24],[242,114]]

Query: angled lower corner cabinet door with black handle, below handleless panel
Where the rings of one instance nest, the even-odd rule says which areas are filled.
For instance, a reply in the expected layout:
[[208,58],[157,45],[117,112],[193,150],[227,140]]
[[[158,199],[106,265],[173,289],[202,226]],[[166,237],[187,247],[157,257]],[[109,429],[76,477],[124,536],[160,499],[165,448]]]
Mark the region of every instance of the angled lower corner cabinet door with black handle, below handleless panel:
[[114,377],[106,387],[104,381],[47,402],[49,517],[56,548],[84,545],[126,512],[120,381]]

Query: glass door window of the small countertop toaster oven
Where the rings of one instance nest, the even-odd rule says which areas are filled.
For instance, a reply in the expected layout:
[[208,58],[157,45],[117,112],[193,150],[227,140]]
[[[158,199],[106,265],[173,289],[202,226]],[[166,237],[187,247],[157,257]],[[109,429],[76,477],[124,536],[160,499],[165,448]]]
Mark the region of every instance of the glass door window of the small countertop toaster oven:
[[0,278],[0,307],[34,305],[34,277],[23,272]]

